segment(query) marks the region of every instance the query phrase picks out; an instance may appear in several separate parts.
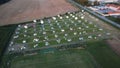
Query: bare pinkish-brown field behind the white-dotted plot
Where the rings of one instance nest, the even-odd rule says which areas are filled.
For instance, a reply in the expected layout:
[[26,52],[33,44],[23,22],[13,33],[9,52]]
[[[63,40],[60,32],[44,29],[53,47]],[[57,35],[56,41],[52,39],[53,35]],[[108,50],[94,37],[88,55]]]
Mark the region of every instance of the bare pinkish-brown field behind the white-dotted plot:
[[11,0],[0,5],[0,25],[15,24],[33,19],[77,11],[67,0]]

